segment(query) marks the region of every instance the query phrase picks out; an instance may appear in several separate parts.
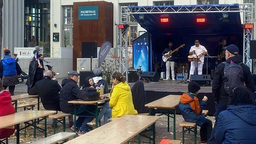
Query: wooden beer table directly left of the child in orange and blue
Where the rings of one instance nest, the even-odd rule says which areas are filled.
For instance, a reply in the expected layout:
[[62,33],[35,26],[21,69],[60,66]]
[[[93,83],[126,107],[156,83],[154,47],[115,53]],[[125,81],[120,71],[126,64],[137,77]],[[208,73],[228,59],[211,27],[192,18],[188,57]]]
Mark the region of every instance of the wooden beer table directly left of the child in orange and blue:
[[163,108],[163,109],[168,109],[168,112],[161,112],[161,111],[158,111],[164,115],[167,115],[168,117],[168,132],[170,131],[169,130],[169,127],[170,127],[170,118],[173,119],[173,139],[176,140],[176,110],[175,110],[175,107],[177,105],[179,105],[179,102],[180,102],[180,95],[168,95],[168,96],[165,96],[161,99],[158,99],[158,100],[155,100],[155,101],[152,101],[151,103],[148,103],[148,104],[145,104],[146,107],[149,108],[149,115],[151,115],[151,111],[152,109],[154,108]]

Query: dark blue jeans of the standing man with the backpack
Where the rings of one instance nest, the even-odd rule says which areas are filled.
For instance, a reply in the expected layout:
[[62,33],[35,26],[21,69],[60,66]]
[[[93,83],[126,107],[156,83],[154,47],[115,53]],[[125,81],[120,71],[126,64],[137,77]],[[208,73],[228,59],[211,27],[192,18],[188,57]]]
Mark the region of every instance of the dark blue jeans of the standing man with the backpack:
[[212,128],[212,134],[211,134],[211,138],[208,140],[208,144],[217,144],[214,134],[215,134],[215,128],[216,128],[217,121],[218,121],[218,116],[219,116],[220,112],[222,112],[226,109],[227,109],[227,106],[224,106],[220,103],[215,104],[215,123],[214,123],[214,127]]

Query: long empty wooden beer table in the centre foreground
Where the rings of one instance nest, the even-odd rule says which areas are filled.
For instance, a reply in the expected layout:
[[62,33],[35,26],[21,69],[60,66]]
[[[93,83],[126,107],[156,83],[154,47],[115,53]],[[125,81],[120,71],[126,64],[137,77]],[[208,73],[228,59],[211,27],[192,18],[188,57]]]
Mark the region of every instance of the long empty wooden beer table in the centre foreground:
[[124,144],[148,127],[151,127],[153,138],[151,136],[147,138],[155,144],[155,123],[159,118],[159,116],[142,115],[121,116],[65,144]]

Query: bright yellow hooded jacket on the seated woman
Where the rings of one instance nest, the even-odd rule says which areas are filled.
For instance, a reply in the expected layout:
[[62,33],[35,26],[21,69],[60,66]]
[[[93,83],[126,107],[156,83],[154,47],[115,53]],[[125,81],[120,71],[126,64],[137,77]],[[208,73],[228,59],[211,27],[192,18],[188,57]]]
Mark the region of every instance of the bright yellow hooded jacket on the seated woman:
[[112,117],[138,114],[132,103],[131,88],[126,82],[113,87],[110,92],[109,107],[112,108]]

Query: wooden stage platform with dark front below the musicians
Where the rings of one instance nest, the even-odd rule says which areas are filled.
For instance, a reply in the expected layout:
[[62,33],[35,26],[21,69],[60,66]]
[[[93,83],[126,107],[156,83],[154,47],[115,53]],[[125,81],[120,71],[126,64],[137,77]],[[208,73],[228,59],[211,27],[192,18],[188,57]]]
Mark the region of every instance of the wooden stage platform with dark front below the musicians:
[[[144,82],[144,88],[147,93],[147,102],[158,100],[164,96],[170,94],[182,95],[182,93],[188,91],[188,83],[179,83],[181,80],[159,80],[158,82]],[[134,83],[129,83],[132,88]],[[215,113],[215,104],[212,98],[212,86],[201,86],[199,90],[198,98],[202,100],[204,96],[208,97],[208,103],[204,109],[209,110],[208,114],[213,115]],[[176,111],[179,112],[179,108],[176,107]]]

